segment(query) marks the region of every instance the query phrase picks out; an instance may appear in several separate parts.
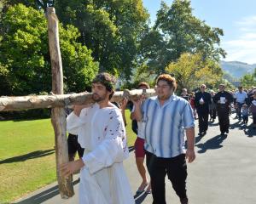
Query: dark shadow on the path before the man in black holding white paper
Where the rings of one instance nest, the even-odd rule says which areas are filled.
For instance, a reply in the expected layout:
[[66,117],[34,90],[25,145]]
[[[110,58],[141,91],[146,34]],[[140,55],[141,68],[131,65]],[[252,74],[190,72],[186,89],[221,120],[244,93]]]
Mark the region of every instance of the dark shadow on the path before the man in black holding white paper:
[[198,153],[205,153],[207,150],[215,150],[223,147],[221,143],[224,141],[224,139],[227,138],[227,135],[217,135],[212,139],[207,140],[205,143],[201,144],[195,144],[198,148],[201,150],[198,150]]

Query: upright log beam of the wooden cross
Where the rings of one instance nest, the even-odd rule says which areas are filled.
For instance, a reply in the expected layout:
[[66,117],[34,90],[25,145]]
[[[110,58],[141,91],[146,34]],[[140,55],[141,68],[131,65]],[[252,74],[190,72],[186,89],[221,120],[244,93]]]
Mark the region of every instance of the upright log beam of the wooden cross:
[[[61,49],[59,42],[58,18],[55,8],[47,8],[49,54],[52,71],[52,92],[63,94],[63,73],[61,63]],[[56,174],[61,198],[67,199],[74,195],[71,176],[64,178],[60,172],[60,164],[68,161],[67,153],[67,124],[64,108],[51,109],[51,122],[55,131]]]

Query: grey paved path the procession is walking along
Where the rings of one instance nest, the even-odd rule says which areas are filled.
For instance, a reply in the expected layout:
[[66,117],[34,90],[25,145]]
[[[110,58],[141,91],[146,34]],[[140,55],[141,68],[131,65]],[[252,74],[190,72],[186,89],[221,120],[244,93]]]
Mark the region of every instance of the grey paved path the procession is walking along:
[[[218,123],[210,123],[203,138],[196,137],[196,160],[188,164],[190,204],[256,204],[256,129],[243,127],[230,117],[228,136],[220,136]],[[249,123],[252,118],[249,119]],[[197,131],[197,128],[196,128]],[[125,161],[131,189],[136,192],[141,180],[134,154]],[[78,201],[78,177],[74,178],[76,195],[61,200],[56,183],[15,201],[17,204],[75,204]],[[166,180],[166,202],[178,204],[172,185]],[[152,203],[151,195],[136,196],[136,204]],[[99,203],[100,204],[100,203]],[[121,203],[120,203],[121,204]]]

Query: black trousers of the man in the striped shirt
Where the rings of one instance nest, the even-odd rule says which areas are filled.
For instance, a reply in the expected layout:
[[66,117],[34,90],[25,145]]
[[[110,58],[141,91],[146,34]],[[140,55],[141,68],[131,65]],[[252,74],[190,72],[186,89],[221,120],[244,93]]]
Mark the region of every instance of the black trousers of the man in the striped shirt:
[[187,164],[184,154],[162,158],[146,151],[146,163],[151,178],[153,204],[166,204],[166,174],[179,198],[187,198]]

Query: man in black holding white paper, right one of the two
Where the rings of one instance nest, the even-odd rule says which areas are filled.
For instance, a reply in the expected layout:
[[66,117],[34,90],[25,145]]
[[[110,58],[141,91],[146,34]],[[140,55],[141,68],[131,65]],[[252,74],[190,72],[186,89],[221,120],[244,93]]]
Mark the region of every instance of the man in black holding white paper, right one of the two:
[[213,102],[217,106],[218,124],[222,135],[229,133],[230,127],[230,103],[233,102],[233,96],[226,92],[225,85],[219,85],[219,92],[213,97]]

